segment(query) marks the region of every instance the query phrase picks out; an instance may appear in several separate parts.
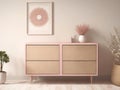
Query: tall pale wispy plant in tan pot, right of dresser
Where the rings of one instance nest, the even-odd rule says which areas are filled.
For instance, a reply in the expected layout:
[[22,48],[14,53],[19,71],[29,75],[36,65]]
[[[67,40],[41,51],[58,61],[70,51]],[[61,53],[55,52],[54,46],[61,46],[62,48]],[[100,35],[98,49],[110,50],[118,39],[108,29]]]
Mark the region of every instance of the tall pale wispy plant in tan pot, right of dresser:
[[112,83],[120,85],[120,32],[115,28],[115,33],[111,34],[110,51],[114,57],[111,80]]

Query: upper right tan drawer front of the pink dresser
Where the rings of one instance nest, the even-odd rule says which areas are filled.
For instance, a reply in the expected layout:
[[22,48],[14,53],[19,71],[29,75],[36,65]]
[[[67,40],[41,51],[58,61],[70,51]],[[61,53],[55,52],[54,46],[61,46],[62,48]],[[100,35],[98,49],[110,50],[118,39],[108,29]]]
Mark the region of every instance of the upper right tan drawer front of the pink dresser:
[[63,45],[63,60],[96,60],[96,45]]

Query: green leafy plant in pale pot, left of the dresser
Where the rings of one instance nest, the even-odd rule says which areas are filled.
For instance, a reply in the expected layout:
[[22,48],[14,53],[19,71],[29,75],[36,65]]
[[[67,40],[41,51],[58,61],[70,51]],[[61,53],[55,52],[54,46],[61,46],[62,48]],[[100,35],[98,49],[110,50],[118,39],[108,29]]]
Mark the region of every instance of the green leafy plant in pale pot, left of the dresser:
[[5,83],[6,81],[6,72],[3,71],[3,65],[7,62],[9,62],[9,56],[5,51],[0,51],[0,84]]

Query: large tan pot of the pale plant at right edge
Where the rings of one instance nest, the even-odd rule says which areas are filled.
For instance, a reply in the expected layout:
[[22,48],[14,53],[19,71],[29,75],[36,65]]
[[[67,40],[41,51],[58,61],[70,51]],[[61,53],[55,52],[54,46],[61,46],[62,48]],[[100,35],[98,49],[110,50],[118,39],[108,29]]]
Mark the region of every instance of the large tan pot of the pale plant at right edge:
[[120,65],[113,65],[111,80],[113,84],[120,86]]

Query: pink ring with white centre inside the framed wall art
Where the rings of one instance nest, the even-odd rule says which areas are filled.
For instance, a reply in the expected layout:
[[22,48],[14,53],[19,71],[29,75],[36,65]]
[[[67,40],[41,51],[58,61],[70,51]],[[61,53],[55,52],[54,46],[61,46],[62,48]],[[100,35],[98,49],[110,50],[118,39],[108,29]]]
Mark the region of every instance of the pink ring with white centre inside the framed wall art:
[[30,14],[30,20],[35,26],[43,26],[48,22],[48,14],[43,8],[36,8]]

